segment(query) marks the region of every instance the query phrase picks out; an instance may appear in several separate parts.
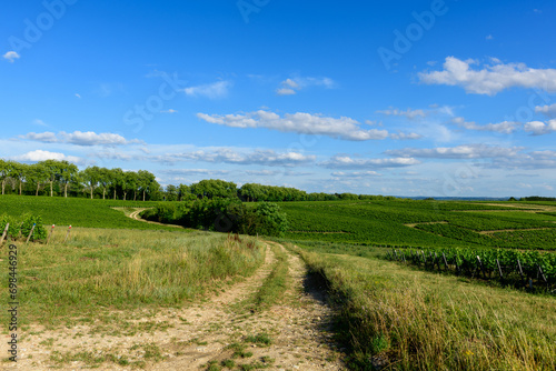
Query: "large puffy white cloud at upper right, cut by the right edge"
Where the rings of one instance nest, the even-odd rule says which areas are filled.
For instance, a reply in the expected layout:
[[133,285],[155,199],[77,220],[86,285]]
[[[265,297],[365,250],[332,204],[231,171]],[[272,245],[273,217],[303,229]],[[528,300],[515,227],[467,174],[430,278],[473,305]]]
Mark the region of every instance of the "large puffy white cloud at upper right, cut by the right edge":
[[474,60],[459,60],[447,57],[444,70],[419,72],[419,79],[427,84],[446,84],[463,87],[468,93],[495,96],[498,92],[518,87],[537,88],[545,91],[556,91],[556,69],[533,69],[524,63],[499,63],[483,66],[483,69],[471,69]]

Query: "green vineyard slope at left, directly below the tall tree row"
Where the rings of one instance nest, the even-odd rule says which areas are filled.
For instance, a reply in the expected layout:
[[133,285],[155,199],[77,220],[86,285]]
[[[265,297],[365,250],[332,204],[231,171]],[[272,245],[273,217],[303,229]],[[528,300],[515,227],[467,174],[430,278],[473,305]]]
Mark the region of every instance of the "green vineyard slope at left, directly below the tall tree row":
[[1,195],[0,215],[20,218],[24,213],[40,215],[46,224],[118,228],[141,230],[175,230],[171,227],[149,224],[126,217],[112,208],[150,208],[158,202],[90,200],[61,197]]

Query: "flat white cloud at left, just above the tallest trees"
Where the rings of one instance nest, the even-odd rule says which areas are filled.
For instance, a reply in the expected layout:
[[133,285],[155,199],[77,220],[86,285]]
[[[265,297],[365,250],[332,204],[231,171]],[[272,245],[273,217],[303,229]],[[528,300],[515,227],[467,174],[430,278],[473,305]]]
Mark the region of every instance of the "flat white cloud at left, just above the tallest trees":
[[92,131],[87,131],[87,132],[75,131],[72,133],[67,133],[64,131],[61,131],[58,134],[48,131],[42,133],[30,132],[27,136],[23,136],[22,138],[43,143],[69,143],[76,146],[125,146],[132,143],[142,143],[137,139],[127,140],[120,134],[108,133],[108,132],[96,133]]

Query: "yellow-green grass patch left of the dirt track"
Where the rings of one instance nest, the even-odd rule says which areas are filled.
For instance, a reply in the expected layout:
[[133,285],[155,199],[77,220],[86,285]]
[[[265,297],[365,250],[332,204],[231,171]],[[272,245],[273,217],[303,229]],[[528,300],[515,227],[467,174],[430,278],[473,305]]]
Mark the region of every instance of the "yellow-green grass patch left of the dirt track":
[[[262,261],[261,245],[250,238],[76,229],[68,243],[19,245],[18,294],[24,319],[39,322],[111,309],[179,307],[229,279],[250,275]],[[8,272],[6,259],[1,264]],[[2,302],[9,302],[7,282],[8,277]]]

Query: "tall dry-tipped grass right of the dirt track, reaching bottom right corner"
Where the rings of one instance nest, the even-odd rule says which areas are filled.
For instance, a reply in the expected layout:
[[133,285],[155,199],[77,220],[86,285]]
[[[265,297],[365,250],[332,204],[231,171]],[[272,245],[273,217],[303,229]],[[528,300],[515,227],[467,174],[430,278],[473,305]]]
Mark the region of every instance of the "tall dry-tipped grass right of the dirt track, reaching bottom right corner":
[[358,370],[555,370],[556,300],[299,250],[340,303]]

